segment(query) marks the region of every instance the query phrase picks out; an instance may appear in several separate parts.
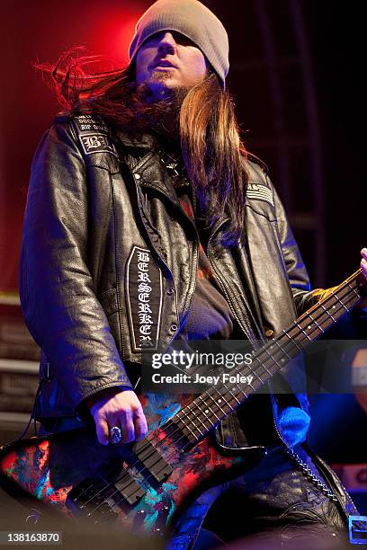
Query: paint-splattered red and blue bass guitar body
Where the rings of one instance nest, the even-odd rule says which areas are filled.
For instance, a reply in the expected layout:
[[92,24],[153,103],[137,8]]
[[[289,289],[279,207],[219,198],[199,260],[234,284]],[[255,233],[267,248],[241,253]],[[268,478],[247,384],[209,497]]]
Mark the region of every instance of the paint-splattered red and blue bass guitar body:
[[[162,532],[196,494],[228,475],[239,475],[245,467],[243,457],[219,454],[210,437],[183,452],[177,444],[177,430],[171,426],[174,435],[167,434],[166,422],[190,400],[192,395],[181,396],[181,400],[158,394],[142,396],[150,431],[134,445],[104,447],[94,430],[87,428],[6,445],[0,450],[0,474],[6,478],[6,490],[21,489],[68,516],[89,517],[94,523],[116,519],[127,528]],[[146,454],[152,455],[148,459],[153,460],[147,469],[133,449],[147,447],[153,440],[159,454],[148,448]],[[161,481],[151,473],[159,457],[163,457]]]

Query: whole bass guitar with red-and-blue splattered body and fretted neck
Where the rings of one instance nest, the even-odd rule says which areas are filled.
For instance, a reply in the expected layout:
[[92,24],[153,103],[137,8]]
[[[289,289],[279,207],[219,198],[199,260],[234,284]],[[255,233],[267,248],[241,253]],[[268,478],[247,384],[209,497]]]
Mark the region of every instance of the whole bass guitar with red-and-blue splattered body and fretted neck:
[[245,457],[219,453],[211,430],[352,309],[365,286],[362,271],[356,271],[257,350],[251,365],[232,369],[246,385],[212,386],[194,399],[141,396],[150,431],[138,443],[103,447],[94,430],[82,429],[5,446],[0,475],[8,492],[22,489],[96,523],[119,519],[129,528],[165,530],[195,494],[246,468]]

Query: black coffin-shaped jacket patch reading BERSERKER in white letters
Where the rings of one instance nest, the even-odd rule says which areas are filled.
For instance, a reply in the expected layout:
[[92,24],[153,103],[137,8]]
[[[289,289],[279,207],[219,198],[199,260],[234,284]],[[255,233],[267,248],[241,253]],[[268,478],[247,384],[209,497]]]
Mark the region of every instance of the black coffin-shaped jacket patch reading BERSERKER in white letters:
[[157,350],[162,310],[162,273],[152,254],[134,246],[126,266],[126,295],[134,351]]

